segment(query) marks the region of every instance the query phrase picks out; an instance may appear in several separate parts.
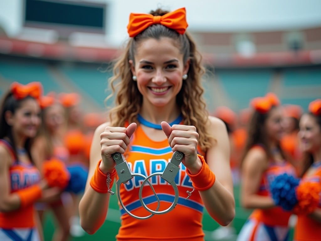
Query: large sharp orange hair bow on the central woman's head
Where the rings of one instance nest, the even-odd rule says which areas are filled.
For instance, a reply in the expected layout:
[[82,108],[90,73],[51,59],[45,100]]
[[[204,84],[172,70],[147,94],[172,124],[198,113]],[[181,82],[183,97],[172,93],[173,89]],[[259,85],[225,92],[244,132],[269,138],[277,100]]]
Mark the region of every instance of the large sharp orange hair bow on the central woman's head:
[[186,22],[185,7],[166,13],[163,16],[153,16],[152,14],[145,13],[130,13],[129,23],[127,25],[129,37],[135,37],[153,24],[161,24],[177,31],[179,34],[184,34],[188,26]]

